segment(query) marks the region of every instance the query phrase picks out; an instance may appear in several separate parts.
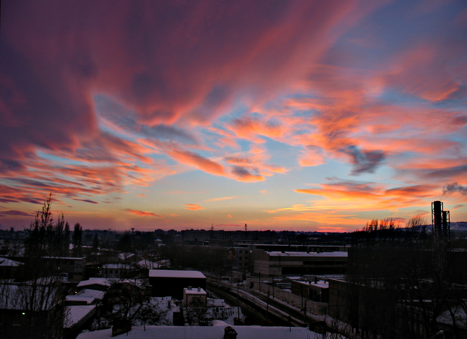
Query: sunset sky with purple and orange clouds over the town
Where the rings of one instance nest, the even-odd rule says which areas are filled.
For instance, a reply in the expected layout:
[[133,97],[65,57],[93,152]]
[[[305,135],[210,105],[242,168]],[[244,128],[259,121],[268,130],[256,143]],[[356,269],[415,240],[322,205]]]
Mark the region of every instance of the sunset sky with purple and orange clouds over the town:
[[467,221],[467,3],[1,1],[0,229]]

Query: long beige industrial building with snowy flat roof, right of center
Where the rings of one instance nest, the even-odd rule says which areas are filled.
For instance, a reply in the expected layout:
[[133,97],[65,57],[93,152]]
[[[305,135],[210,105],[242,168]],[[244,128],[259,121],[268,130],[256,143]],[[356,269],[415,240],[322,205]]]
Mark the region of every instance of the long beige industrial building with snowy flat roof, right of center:
[[252,253],[254,273],[264,276],[344,274],[347,252],[266,252]]

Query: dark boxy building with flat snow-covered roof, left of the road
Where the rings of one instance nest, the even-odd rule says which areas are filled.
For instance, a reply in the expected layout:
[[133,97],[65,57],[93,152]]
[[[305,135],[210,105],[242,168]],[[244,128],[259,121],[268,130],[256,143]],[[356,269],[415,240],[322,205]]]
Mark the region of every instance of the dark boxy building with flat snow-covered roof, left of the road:
[[206,289],[206,277],[199,271],[149,270],[152,296],[172,296],[183,299],[183,288]]

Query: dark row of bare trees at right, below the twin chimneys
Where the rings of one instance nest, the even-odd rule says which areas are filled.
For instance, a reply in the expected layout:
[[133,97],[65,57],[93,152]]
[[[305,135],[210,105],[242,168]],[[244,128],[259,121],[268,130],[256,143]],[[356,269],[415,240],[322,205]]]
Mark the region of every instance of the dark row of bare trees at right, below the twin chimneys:
[[[382,339],[430,338],[447,318],[460,338],[465,319],[459,324],[458,317],[467,312],[467,253],[451,250],[445,239],[427,232],[426,224],[420,216],[404,228],[373,219],[356,232],[343,297],[330,305],[334,313],[364,335]],[[390,232],[397,235],[385,236]]]

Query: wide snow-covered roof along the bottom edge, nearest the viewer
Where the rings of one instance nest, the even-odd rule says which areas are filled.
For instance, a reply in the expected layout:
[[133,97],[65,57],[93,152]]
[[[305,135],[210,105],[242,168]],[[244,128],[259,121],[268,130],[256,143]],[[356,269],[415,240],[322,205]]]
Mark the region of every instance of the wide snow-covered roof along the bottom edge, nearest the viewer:
[[[128,333],[132,339],[219,339],[224,336],[224,328],[231,326],[237,333],[237,338],[257,339],[318,339],[320,334],[304,327],[276,327],[276,326],[234,326],[220,320],[213,321],[214,326],[133,326]],[[81,333],[77,339],[112,338],[112,330],[100,330]],[[122,338],[126,338],[123,337]]]

